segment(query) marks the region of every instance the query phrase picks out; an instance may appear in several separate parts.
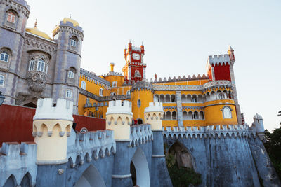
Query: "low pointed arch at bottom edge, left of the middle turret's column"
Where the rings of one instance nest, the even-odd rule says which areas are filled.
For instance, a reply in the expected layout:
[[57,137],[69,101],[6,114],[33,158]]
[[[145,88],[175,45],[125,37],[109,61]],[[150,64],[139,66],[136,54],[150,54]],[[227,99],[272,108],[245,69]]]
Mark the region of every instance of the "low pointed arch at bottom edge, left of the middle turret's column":
[[90,165],[75,183],[75,187],[106,187],[103,177],[100,176],[98,169]]

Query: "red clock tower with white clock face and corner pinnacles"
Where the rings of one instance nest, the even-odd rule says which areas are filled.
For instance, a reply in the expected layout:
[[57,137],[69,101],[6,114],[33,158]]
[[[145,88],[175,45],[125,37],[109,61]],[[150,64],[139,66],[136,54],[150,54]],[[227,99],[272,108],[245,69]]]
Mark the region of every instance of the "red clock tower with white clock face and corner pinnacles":
[[145,79],[146,64],[143,63],[143,55],[145,55],[145,46],[132,46],[129,41],[128,46],[124,49],[124,58],[126,61],[122,71],[124,81],[143,81]]

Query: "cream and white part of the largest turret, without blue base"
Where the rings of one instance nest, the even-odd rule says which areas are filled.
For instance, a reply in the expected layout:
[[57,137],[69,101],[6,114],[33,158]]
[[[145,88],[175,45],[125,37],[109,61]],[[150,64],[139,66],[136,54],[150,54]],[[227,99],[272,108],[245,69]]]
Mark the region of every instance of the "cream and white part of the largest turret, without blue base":
[[67,137],[70,136],[73,102],[39,99],[33,117],[33,136],[37,143],[37,164],[53,165],[67,162]]

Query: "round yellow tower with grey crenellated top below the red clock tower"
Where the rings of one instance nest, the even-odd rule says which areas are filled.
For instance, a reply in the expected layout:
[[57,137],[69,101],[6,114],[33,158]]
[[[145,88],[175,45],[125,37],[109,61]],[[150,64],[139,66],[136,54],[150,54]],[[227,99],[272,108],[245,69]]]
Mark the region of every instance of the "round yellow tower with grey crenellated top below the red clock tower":
[[143,124],[145,108],[153,101],[153,94],[152,84],[144,81],[133,83],[131,88],[133,119],[138,120],[138,124]]

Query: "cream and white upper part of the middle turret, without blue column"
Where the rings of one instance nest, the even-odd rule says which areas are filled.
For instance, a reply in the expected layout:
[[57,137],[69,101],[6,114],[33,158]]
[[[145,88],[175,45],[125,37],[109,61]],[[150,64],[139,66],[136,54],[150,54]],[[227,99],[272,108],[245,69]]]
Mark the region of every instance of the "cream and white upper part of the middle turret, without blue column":
[[111,101],[106,112],[106,129],[114,130],[115,140],[129,141],[132,118],[131,102]]

